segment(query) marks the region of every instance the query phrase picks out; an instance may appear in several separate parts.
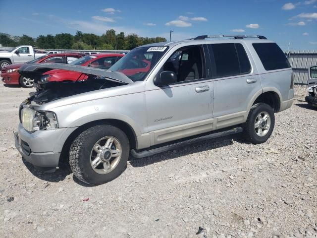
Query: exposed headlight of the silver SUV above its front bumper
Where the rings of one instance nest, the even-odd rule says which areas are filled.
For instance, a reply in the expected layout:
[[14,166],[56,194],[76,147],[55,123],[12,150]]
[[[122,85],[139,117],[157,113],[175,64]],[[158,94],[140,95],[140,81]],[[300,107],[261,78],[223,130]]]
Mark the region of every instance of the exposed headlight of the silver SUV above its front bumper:
[[30,108],[22,109],[22,125],[30,132],[58,128],[56,115],[53,112],[36,112]]

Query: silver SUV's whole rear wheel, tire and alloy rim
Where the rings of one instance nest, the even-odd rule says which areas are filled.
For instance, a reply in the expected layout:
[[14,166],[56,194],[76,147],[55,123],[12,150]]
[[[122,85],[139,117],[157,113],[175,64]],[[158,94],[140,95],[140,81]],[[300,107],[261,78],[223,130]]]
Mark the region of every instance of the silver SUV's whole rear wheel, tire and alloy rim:
[[272,134],[274,123],[274,111],[269,105],[265,103],[253,105],[243,125],[245,140],[253,144],[264,143]]

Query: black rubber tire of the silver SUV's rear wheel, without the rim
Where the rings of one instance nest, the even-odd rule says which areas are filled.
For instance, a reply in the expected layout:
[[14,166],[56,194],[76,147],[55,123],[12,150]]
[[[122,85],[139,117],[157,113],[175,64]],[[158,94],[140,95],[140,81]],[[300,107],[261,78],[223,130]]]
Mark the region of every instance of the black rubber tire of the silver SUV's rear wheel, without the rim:
[[[268,131],[264,136],[259,136],[255,129],[255,122],[258,115],[262,112],[266,112],[270,117],[270,126]],[[273,128],[275,124],[275,117],[273,109],[265,104],[265,103],[258,103],[251,107],[249,112],[248,119],[245,124],[243,124],[243,137],[244,140],[253,144],[261,144],[264,143],[272,134]]]

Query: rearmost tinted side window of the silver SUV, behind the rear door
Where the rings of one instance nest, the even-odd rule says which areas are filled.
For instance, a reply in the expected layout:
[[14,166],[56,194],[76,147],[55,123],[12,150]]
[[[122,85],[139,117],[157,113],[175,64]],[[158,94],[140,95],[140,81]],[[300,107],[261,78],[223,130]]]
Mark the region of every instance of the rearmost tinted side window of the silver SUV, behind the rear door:
[[291,67],[286,56],[275,43],[253,43],[252,45],[265,70],[268,71]]

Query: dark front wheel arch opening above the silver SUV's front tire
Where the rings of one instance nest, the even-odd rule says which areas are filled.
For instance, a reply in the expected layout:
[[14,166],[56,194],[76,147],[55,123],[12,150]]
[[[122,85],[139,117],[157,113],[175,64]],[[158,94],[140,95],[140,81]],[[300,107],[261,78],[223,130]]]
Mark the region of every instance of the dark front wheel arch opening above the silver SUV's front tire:
[[76,130],[74,130],[65,140],[64,145],[62,147],[60,161],[68,159],[69,148],[73,140],[84,130],[88,129],[89,127],[101,124],[109,124],[118,127],[121,129],[128,137],[130,149],[134,149],[137,147],[137,136],[132,128],[127,122],[119,119],[99,119],[87,122],[85,124],[80,125]]

